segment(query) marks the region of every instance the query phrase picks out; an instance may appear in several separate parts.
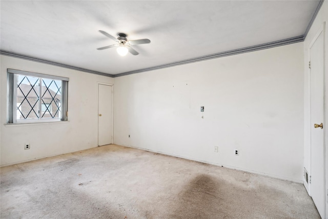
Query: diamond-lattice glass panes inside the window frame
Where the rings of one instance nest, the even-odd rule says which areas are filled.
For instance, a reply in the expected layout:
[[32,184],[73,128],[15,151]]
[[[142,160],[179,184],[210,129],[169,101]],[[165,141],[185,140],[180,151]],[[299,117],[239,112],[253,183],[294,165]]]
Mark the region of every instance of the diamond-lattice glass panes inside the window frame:
[[17,78],[17,119],[60,118],[60,80],[27,75]]

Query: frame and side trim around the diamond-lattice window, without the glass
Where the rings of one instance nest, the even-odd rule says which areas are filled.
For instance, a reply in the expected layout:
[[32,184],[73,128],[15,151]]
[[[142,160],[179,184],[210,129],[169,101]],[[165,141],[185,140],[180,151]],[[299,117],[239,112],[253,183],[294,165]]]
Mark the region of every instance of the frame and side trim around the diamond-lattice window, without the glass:
[[[61,104],[60,104],[60,118],[35,118],[28,120],[19,120],[17,121],[17,106],[15,97],[17,97],[17,81],[15,74],[25,75],[25,76],[33,76],[40,78],[47,78],[52,80],[60,80],[61,81]],[[8,102],[7,102],[7,124],[23,124],[23,123],[46,123],[46,122],[59,122],[59,121],[68,121],[68,77],[61,77],[49,74],[35,73],[29,71],[22,71],[16,69],[7,69],[7,94],[8,94]],[[39,97],[38,101],[41,101],[42,97]],[[15,105],[15,106],[14,106]],[[41,110],[41,109],[40,109]]]

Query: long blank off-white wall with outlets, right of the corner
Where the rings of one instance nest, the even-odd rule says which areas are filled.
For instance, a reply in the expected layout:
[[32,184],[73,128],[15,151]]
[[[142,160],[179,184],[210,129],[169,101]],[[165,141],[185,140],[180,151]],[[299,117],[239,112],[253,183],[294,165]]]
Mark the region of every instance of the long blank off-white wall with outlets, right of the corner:
[[297,43],[116,77],[114,143],[301,182],[303,60]]

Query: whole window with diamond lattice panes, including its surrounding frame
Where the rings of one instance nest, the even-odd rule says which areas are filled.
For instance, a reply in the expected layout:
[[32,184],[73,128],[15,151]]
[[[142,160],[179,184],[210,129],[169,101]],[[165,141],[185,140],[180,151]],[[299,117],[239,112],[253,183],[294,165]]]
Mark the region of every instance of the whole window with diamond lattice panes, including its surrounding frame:
[[66,121],[69,78],[8,69],[8,123]]

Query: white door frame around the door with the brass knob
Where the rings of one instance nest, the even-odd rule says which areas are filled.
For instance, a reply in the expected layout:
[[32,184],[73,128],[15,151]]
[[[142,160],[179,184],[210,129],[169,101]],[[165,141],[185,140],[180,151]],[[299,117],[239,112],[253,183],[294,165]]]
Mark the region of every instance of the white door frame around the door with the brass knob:
[[[323,122],[324,122],[324,134],[323,134],[323,144],[324,144],[324,147],[323,147],[323,153],[324,153],[324,156],[323,156],[323,179],[324,179],[324,182],[323,182],[323,187],[324,187],[324,191],[325,191],[325,195],[324,195],[324,218],[326,218],[326,216],[328,215],[328,203],[327,203],[327,195],[328,195],[328,192],[327,192],[327,188],[328,188],[328,142],[326,141],[328,139],[328,116],[325,116],[326,115],[326,112],[328,112],[328,106],[326,105],[326,103],[328,103],[328,93],[327,93],[327,90],[325,89],[328,85],[328,71],[327,71],[327,68],[326,66],[328,66],[328,62],[326,60],[326,57],[327,56],[327,37],[326,37],[326,28],[325,28],[325,22],[322,23],[322,25],[320,26],[320,28],[317,30],[316,34],[314,35],[311,43],[309,44],[309,47],[307,48],[308,50],[308,63],[310,62],[310,49],[311,47],[313,46],[313,44],[316,42],[317,38],[319,37],[320,34],[323,34],[323,95],[324,95],[324,98],[323,98]],[[308,63],[306,63],[306,65],[308,65]],[[308,89],[308,92],[305,93],[305,95],[307,95],[307,102],[309,104],[309,109],[307,111],[307,117],[308,117],[308,121],[305,121],[305,124],[307,127],[305,127],[305,131],[306,131],[306,135],[308,135],[310,137],[310,145],[309,145],[309,148],[310,148],[310,154],[308,154],[307,156],[309,157],[309,161],[310,161],[310,167],[309,167],[309,172],[311,175],[312,174],[312,165],[311,165],[311,127],[313,124],[311,124],[311,69],[308,68],[308,71],[307,71],[307,77],[308,77],[308,84],[306,84],[306,86],[309,88]],[[304,154],[305,156],[306,154]],[[309,195],[311,196],[311,184],[306,184],[305,181],[304,181],[304,186],[306,188],[306,190],[308,191]]]

